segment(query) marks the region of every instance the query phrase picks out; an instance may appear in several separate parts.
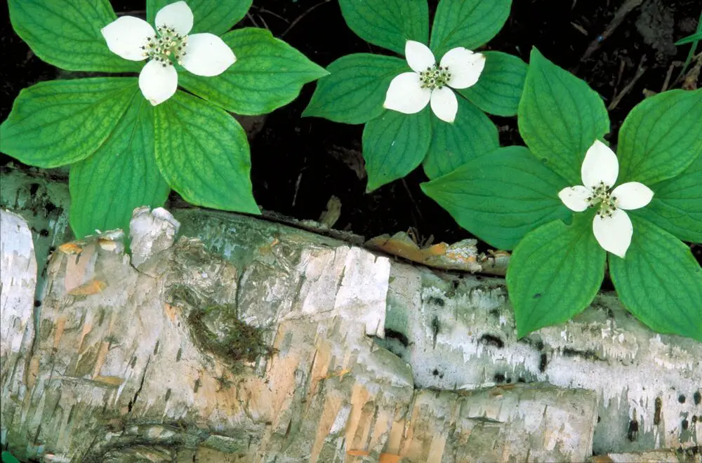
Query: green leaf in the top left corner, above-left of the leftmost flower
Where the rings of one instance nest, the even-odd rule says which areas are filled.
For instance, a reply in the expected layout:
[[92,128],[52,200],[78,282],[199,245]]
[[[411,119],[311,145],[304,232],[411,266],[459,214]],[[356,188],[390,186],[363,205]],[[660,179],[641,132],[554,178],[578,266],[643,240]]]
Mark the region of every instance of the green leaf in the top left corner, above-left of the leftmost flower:
[[100,29],[117,19],[110,1],[8,0],[12,27],[50,65],[69,71],[138,72],[107,48]]

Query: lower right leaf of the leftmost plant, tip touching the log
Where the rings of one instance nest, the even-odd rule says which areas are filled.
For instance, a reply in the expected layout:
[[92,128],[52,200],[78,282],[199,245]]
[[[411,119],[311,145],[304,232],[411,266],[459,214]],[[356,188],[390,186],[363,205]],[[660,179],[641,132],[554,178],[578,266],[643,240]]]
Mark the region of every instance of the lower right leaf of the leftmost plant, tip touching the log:
[[171,188],[197,206],[259,214],[246,133],[223,109],[182,91],[156,107],[156,162]]

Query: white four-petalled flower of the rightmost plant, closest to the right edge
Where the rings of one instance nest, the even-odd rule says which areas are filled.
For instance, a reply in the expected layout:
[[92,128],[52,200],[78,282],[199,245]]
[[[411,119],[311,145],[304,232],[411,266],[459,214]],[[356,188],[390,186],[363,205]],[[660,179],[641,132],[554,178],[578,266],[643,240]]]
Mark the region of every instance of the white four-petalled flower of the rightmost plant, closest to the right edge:
[[599,208],[592,222],[595,239],[604,250],[623,258],[633,234],[631,220],[624,211],[646,206],[654,192],[639,182],[628,182],[611,189],[618,174],[616,154],[597,140],[583,160],[581,175],[584,186],[564,188],[558,197],[576,212],[588,207]]

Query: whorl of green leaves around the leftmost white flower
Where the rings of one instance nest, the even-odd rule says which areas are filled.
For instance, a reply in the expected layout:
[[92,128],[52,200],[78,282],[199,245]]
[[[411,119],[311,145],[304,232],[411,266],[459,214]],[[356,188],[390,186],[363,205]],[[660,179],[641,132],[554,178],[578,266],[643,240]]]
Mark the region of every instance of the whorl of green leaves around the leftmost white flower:
[[[150,24],[174,1],[147,0]],[[251,0],[187,4],[191,33],[225,34]],[[52,65],[93,72],[138,72],[144,65],[107,46],[100,31],[117,20],[107,0],[9,0],[8,6],[15,31]],[[43,82],[15,100],[0,126],[0,149],[32,166],[72,165],[70,222],[77,236],[128,229],[133,208],[161,206],[171,187],[198,205],[259,213],[246,134],[223,109],[270,112],[328,73],[267,30],[232,31],[223,40],[237,56],[223,74],[195,76],[176,65],[180,84],[204,100],[181,92],[154,108],[133,77]]]

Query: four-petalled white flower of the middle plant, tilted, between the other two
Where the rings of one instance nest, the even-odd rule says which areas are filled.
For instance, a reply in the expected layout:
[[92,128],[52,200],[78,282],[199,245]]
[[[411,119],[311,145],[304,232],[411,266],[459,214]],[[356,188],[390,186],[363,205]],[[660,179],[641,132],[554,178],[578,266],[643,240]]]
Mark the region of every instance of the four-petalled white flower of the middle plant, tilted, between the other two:
[[428,46],[413,40],[405,44],[404,55],[414,72],[403,72],[392,79],[383,107],[415,114],[431,102],[439,119],[453,122],[458,100],[451,88],[474,86],[485,67],[485,55],[459,46],[447,51],[437,65]]

